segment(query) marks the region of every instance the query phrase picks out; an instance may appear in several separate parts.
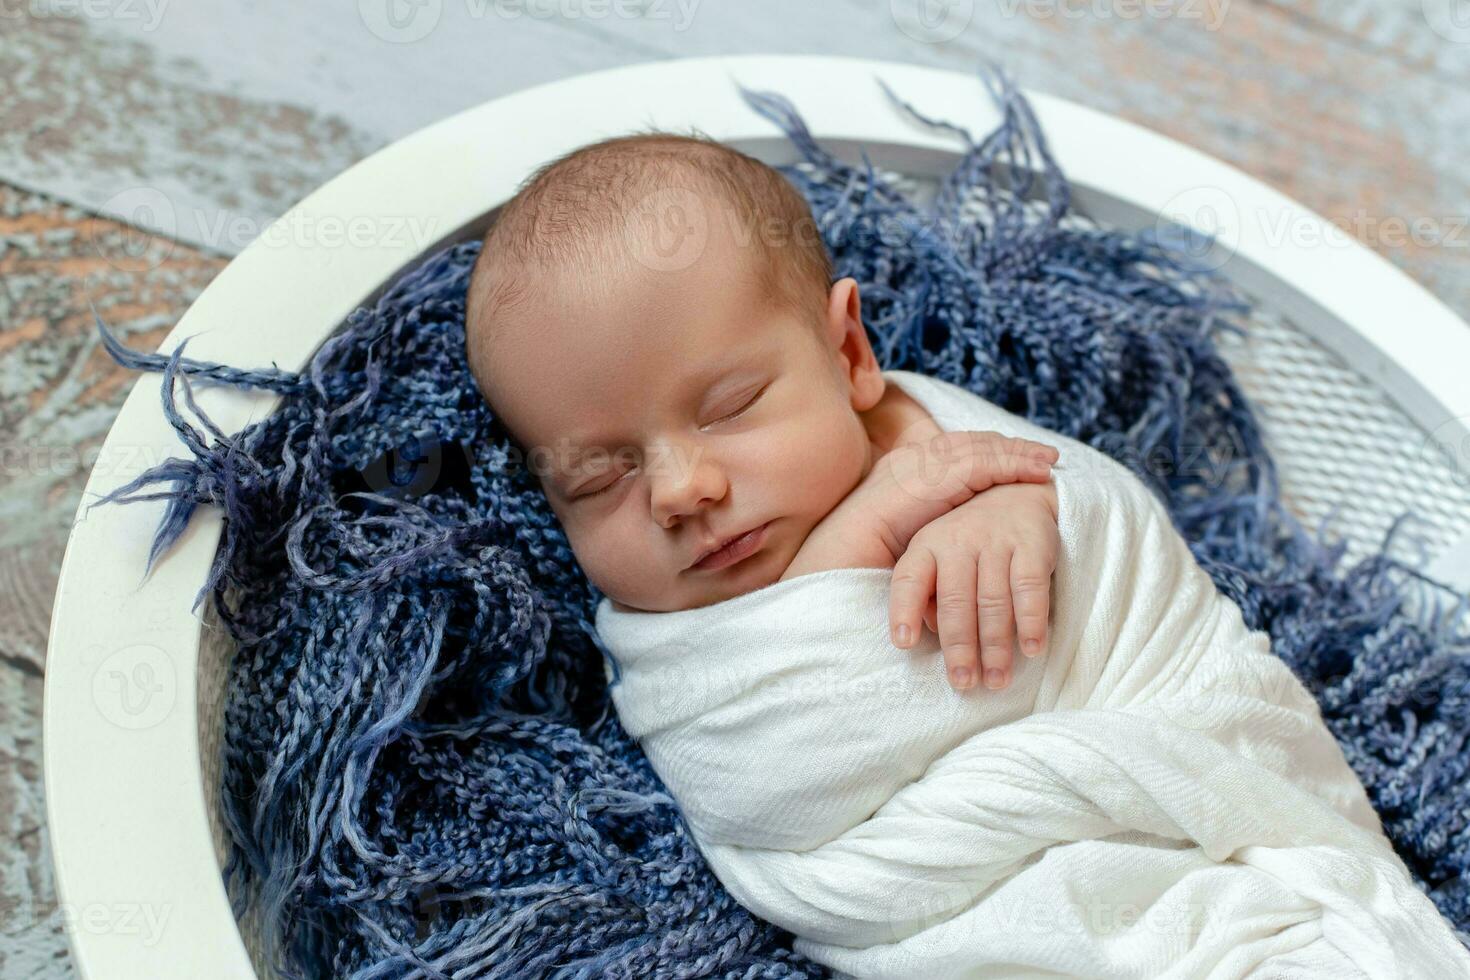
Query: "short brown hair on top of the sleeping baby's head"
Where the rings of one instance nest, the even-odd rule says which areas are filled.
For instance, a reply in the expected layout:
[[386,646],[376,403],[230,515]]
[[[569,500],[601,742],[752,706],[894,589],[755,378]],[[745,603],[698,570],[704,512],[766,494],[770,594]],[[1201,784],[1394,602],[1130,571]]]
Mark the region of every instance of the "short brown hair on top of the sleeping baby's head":
[[528,176],[500,209],[470,272],[465,334],[470,370],[488,395],[485,375],[497,314],[529,294],[528,272],[606,269],[626,239],[631,212],[659,194],[692,192],[723,206],[710,220],[741,222],[753,245],[761,295],[785,304],[813,335],[832,285],[832,257],[811,209],[778,170],[698,131],[650,129],[592,143]]

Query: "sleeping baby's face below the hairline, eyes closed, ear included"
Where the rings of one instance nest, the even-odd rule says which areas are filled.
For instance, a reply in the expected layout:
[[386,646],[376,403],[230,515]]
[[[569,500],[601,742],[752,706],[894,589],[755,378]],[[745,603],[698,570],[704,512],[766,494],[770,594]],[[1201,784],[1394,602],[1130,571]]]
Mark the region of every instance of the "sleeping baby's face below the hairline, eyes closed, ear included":
[[[856,298],[839,295],[856,287],[833,287],[819,338],[797,311],[767,309],[739,251],[711,238],[678,273],[629,263],[581,295],[544,289],[554,295],[516,309],[495,348],[494,407],[588,579],[625,608],[694,608],[776,582],[872,467],[858,413],[876,366]],[[869,363],[863,394],[853,360]],[[761,526],[754,554],[695,567]]]

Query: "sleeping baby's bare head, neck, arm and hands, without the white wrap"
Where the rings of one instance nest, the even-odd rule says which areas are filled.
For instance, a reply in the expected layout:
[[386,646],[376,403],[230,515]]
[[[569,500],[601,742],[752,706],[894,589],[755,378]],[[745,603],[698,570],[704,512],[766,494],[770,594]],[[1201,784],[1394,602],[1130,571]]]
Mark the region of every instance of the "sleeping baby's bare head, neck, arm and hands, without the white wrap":
[[[739,194],[722,209],[669,191],[675,175]],[[761,226],[760,241],[742,231]],[[1055,450],[941,438],[879,372],[856,282],[832,284],[810,210],[779,173],[697,140],[609,143],[534,178],[481,256],[470,367],[504,428],[541,450],[526,458],[614,608],[685,610],[886,567],[895,644],[938,629],[957,689],[1007,683],[1016,619],[1022,649],[1039,652]]]

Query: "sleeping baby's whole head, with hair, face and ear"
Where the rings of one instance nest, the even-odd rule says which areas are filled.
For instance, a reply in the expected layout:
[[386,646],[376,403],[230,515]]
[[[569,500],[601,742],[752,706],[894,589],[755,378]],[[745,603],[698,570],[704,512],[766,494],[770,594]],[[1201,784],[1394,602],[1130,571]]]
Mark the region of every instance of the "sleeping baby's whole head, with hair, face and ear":
[[[867,475],[857,284],[769,166],[637,134],[534,173],[485,235],[466,356],[588,579],[670,611],[776,582]],[[763,547],[694,567],[766,525]]]

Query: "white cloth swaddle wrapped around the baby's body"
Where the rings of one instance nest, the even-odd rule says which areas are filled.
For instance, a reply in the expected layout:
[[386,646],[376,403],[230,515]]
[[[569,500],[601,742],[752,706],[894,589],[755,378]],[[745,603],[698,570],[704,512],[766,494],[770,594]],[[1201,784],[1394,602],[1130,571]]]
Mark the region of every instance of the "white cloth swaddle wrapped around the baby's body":
[[954,692],[886,569],[597,629],[720,882],[860,977],[1466,977],[1311,695],[1123,466],[923,375],[941,429],[1060,450],[1047,649]]

